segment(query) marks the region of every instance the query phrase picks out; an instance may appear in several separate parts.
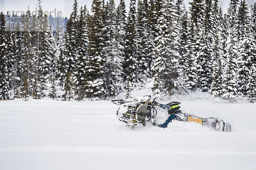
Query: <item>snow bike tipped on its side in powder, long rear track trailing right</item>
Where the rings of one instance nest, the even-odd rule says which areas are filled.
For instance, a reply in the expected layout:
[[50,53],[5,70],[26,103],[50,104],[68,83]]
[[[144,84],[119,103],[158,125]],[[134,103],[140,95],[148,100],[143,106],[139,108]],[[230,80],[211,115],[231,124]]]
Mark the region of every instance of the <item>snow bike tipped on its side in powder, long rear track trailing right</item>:
[[170,102],[166,105],[151,99],[151,96],[139,96],[126,99],[111,100],[116,105],[120,105],[116,111],[116,117],[123,123],[130,126],[137,125],[156,125],[157,113],[165,110],[169,115],[175,115],[182,122],[195,122],[203,127],[209,127],[215,131],[231,132],[231,125],[218,118],[202,118],[189,113],[180,111],[180,102]]

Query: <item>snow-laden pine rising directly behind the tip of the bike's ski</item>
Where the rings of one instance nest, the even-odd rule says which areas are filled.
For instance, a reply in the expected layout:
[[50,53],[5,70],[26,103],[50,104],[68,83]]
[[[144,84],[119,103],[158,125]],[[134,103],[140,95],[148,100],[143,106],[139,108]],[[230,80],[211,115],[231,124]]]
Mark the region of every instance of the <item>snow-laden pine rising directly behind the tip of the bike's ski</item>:
[[105,7],[104,17],[104,47],[102,48],[104,95],[116,96],[121,90],[120,79],[122,75],[122,54],[119,51],[119,42],[116,40],[116,8],[113,0],[110,0]]

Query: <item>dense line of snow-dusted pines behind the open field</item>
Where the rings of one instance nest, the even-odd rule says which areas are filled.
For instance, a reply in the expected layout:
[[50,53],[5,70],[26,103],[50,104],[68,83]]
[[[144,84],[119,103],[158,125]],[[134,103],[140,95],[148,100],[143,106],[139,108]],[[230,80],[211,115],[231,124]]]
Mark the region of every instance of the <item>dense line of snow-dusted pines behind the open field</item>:
[[[39,4],[41,1],[39,0]],[[154,80],[156,95],[201,90],[256,100],[256,3],[231,0],[77,0],[66,28],[41,5],[24,23],[0,16],[0,99],[108,98]],[[14,31],[15,30],[15,31]]]

